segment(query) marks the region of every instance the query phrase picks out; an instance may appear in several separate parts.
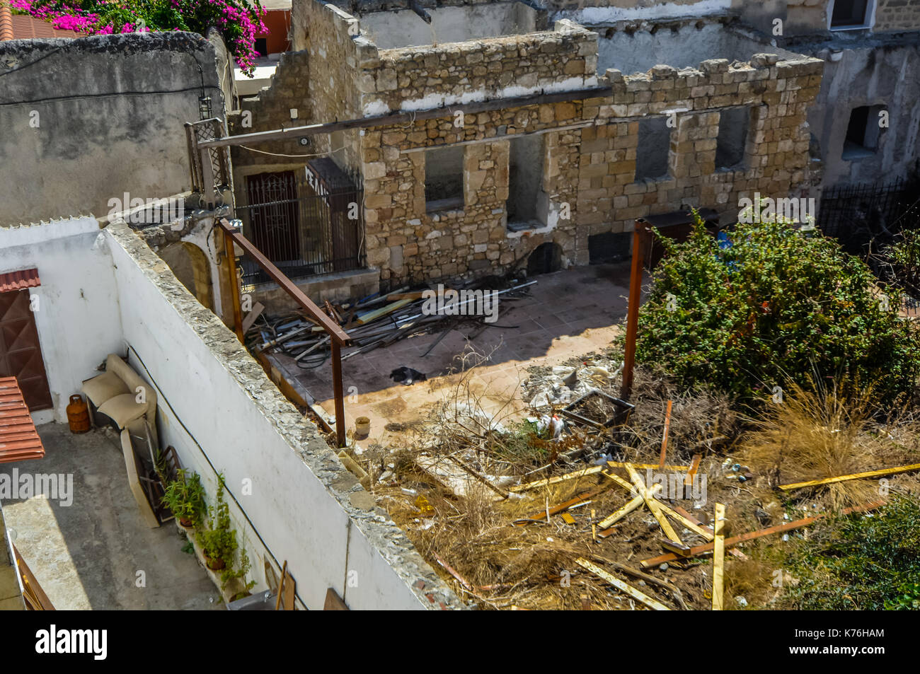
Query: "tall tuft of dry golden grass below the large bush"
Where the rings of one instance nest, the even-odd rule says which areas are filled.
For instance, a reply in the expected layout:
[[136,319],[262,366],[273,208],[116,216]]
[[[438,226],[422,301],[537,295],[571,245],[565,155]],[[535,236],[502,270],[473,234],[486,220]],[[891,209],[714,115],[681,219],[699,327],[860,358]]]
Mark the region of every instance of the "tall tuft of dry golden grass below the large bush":
[[[885,453],[873,421],[879,412],[873,387],[847,381],[805,389],[788,384],[783,401],[753,420],[742,457],[761,466],[773,486],[872,470]],[[855,506],[877,496],[876,483],[849,480],[814,487],[832,508]]]

